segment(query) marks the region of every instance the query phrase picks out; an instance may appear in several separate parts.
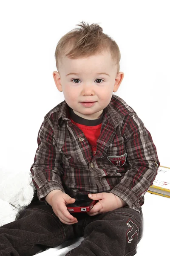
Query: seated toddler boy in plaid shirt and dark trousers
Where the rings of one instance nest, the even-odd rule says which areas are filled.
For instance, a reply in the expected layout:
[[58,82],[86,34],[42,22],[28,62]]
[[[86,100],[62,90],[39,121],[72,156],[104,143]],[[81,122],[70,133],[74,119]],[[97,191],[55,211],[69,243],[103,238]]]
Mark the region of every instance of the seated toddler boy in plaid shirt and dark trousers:
[[[53,77],[65,100],[49,111],[31,166],[37,195],[0,229],[0,255],[30,256],[84,236],[67,256],[133,256],[142,238],[144,194],[159,167],[143,122],[120,97],[116,42],[97,24],[79,25],[57,44]],[[70,213],[74,195],[97,200]],[[36,199],[37,196],[37,199]]]

